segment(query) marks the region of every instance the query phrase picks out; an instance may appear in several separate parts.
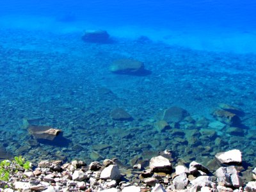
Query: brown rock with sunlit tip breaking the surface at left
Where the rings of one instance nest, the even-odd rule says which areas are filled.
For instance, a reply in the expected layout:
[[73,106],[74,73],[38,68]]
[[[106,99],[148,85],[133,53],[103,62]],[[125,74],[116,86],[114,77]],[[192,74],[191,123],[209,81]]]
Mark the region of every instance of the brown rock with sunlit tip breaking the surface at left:
[[29,132],[31,132],[36,140],[53,141],[60,134],[61,130],[49,126],[30,126]]

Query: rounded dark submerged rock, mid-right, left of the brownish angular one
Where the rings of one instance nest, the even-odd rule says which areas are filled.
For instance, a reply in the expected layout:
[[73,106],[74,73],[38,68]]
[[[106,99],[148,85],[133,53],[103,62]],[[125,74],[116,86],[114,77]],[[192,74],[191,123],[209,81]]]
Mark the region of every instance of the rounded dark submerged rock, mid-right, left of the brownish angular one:
[[165,120],[168,123],[177,123],[183,120],[186,116],[189,116],[189,113],[185,109],[173,106],[172,108],[161,111],[158,116],[160,120]]

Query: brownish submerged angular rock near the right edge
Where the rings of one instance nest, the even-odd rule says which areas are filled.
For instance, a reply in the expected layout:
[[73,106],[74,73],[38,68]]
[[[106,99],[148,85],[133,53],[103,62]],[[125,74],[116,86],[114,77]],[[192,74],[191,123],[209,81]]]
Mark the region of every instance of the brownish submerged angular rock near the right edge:
[[239,116],[228,111],[217,109],[216,111],[214,111],[213,116],[220,122],[223,122],[228,125],[238,126],[241,124]]

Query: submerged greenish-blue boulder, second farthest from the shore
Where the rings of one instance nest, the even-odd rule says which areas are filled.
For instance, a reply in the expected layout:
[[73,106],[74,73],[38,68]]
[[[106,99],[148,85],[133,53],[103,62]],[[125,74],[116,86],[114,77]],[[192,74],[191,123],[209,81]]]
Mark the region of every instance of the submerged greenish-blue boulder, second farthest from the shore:
[[145,70],[143,62],[130,59],[115,60],[109,69],[116,74],[140,74]]

